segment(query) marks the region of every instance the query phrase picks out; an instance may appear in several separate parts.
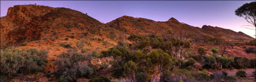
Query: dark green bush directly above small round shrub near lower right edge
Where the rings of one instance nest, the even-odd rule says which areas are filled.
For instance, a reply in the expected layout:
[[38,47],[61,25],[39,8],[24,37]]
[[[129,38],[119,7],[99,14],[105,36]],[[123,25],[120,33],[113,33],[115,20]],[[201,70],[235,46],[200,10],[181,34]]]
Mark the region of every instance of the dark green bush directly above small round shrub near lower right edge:
[[237,69],[248,68],[250,66],[250,60],[246,57],[234,57],[232,65]]

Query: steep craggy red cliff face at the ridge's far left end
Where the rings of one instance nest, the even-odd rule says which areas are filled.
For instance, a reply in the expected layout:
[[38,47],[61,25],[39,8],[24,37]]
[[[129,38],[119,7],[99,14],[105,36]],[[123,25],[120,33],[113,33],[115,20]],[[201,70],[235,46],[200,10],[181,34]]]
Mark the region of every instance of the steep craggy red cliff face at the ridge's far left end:
[[[52,7],[37,5],[15,5],[8,8],[6,19],[18,27],[6,34],[8,45],[39,37],[40,32],[44,29],[39,28],[40,22],[42,22],[42,17],[40,16],[44,16],[53,9]],[[2,24],[1,26],[8,27]]]

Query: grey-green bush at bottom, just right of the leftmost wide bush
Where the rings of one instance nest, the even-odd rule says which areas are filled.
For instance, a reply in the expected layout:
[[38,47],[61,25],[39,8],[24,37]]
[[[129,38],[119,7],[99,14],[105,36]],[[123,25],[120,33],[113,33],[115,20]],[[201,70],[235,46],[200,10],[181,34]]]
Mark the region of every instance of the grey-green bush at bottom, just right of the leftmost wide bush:
[[89,61],[90,56],[81,53],[62,53],[59,54],[58,60],[54,63],[57,65],[58,71],[56,76],[63,76],[68,78],[68,81],[75,81],[76,77],[92,77],[95,70],[89,65],[85,65],[84,61]]

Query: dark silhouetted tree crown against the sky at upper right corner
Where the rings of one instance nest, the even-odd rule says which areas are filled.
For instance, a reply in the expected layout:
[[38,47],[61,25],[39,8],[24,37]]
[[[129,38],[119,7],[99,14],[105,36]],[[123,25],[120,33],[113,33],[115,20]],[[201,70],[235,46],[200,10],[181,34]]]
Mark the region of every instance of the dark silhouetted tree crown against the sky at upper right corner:
[[248,23],[256,27],[256,2],[243,4],[235,11],[236,15],[243,17]]

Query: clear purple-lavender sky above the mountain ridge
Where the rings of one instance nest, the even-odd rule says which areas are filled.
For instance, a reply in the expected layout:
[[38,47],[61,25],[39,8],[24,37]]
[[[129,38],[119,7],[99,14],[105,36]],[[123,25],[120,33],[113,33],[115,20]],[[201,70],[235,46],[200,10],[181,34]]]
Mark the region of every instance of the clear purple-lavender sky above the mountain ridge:
[[9,7],[36,3],[78,10],[104,23],[124,15],[155,21],[167,21],[174,17],[199,28],[202,25],[218,26],[253,37],[254,30],[242,28],[250,24],[234,13],[249,2],[252,1],[1,1],[1,17],[6,16]]

